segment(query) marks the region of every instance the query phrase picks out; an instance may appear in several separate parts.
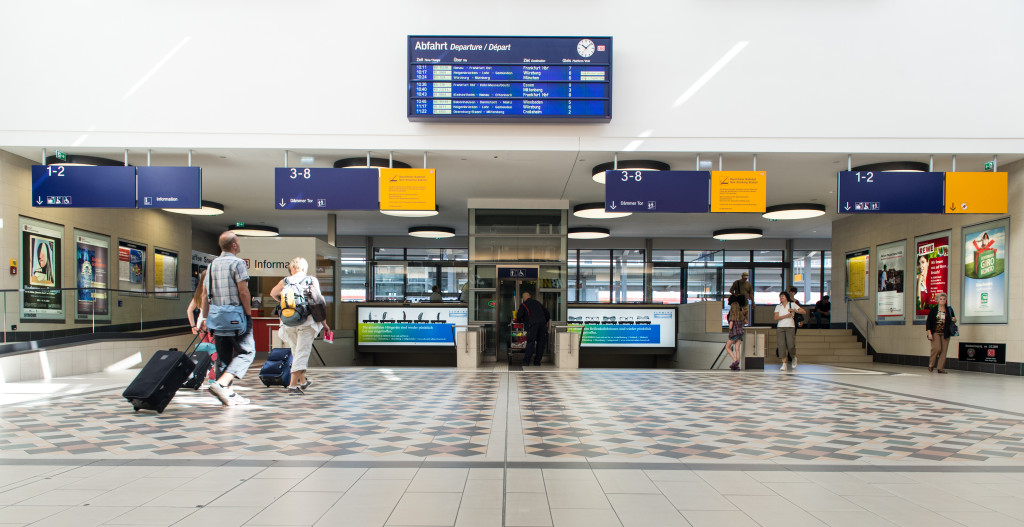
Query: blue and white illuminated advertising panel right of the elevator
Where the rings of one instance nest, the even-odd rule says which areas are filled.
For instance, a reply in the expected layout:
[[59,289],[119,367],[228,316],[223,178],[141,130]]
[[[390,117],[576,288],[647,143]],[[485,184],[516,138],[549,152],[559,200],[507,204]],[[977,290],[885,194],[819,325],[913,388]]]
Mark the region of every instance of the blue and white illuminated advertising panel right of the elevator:
[[675,309],[570,307],[568,322],[584,325],[583,348],[676,346]]

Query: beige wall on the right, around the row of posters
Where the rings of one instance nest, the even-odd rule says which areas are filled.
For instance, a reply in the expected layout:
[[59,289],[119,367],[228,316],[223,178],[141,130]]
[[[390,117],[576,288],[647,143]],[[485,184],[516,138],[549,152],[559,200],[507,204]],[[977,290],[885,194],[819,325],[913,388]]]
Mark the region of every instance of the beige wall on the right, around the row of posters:
[[[961,279],[963,275],[963,232],[961,227],[982,223],[1009,216],[1010,255],[1007,263],[1009,275],[1008,324],[961,324],[961,337],[950,343],[949,356],[956,356],[957,342],[988,342],[1007,344],[1007,361],[1024,362],[1024,162],[999,167],[1010,174],[1008,215],[981,214],[933,214],[933,215],[862,215],[851,216],[833,223],[833,323],[846,320],[846,305],[843,292],[846,291],[846,270],[844,256],[858,249],[870,248],[874,269],[877,246],[890,241],[907,240],[907,250],[912,252],[914,236],[949,229],[952,231],[949,255],[949,304],[957,315],[961,313]],[[908,259],[909,261],[910,259]],[[912,265],[912,263],[908,263]],[[912,267],[910,267],[912,272]],[[874,280],[870,280],[873,283]],[[910,280],[907,281],[910,283]],[[865,300],[856,301],[868,317],[874,316],[874,295],[872,286]],[[928,355],[928,341],[925,340],[924,325],[913,325],[913,299],[905,295],[907,313],[906,325],[872,325],[870,344],[880,353],[900,355]],[[851,318],[861,317],[856,309],[850,309]]]

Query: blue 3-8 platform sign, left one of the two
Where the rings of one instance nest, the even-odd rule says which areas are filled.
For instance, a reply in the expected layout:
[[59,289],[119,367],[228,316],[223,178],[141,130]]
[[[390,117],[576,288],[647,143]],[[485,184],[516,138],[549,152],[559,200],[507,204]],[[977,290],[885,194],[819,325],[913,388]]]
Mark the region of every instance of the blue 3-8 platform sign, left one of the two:
[[273,208],[376,211],[380,209],[380,174],[371,168],[278,168],[273,171]]

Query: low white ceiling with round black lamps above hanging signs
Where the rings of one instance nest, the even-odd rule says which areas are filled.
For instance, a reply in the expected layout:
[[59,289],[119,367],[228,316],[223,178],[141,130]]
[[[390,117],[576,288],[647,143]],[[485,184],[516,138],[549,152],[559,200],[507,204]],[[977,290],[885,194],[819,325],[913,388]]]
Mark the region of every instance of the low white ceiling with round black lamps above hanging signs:
[[[41,147],[11,147],[7,150],[37,161]],[[85,153],[124,159],[123,149],[68,148],[70,153]],[[52,153],[52,151],[51,151]],[[391,152],[373,151],[374,158]],[[289,153],[290,166],[311,156],[311,167],[331,167],[343,158],[366,158],[356,150],[308,150]],[[423,151],[394,151],[394,159],[413,167],[423,166]],[[673,170],[694,170],[696,155],[691,152],[643,152],[621,155],[628,159],[654,159],[668,163]],[[1000,156],[1005,165],[1024,156]],[[467,233],[467,201],[470,199],[567,200],[572,205],[604,201],[604,185],[591,179],[595,165],[612,160],[611,152],[598,151],[480,151],[449,150],[428,152],[427,167],[437,170],[437,205],[440,214],[433,218],[396,218],[377,212],[338,212],[339,235],[404,235],[413,225],[442,225]],[[717,153],[703,153],[719,168]],[[129,163],[145,165],[145,151],[129,151]],[[921,161],[926,155],[854,156],[854,166],[882,161]],[[981,171],[988,156],[962,155],[956,159],[959,171]],[[184,166],[187,151],[154,150],[153,165]],[[753,156],[729,153],[723,157],[724,170],[751,170]],[[614,220],[585,220],[571,217],[569,226],[603,226],[613,237],[710,237],[715,229],[757,227],[766,237],[827,238],[836,213],[836,173],[845,170],[845,153],[762,153],[758,170],[768,174],[768,206],[783,203],[820,203],[827,214],[819,218],[769,222],[760,214],[634,214]],[[276,211],[273,207],[273,169],[285,165],[284,149],[199,149],[193,151],[193,165],[203,167],[203,199],[225,206],[225,214],[195,217],[194,226],[216,232],[237,221],[272,225],[284,235],[316,235],[327,232],[327,213],[319,211]],[[937,156],[937,171],[951,170],[951,157]]]

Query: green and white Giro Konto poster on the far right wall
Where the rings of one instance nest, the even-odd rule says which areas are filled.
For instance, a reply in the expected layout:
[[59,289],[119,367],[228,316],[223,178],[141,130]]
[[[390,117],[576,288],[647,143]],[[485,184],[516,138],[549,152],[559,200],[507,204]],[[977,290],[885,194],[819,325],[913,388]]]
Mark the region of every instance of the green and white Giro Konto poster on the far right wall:
[[964,323],[1007,323],[1010,220],[964,227]]

